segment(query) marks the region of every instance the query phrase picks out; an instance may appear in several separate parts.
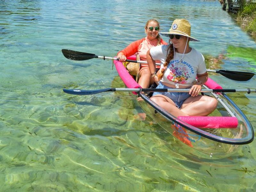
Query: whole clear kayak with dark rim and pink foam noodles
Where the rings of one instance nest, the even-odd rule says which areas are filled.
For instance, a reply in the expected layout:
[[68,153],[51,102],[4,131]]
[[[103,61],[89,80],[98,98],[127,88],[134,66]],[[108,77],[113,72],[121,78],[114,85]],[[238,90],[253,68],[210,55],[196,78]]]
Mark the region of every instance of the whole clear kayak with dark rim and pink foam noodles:
[[[135,60],[134,56],[127,58]],[[140,85],[128,73],[123,63],[114,61],[116,70],[128,88]],[[204,89],[222,89],[208,79]],[[209,116],[173,116],[150,100],[144,93],[139,94],[144,100],[138,102],[147,116],[154,119],[165,131],[172,134],[187,146],[210,157],[230,155],[239,146],[253,141],[253,128],[241,109],[224,93],[205,93],[218,100],[218,107]]]

